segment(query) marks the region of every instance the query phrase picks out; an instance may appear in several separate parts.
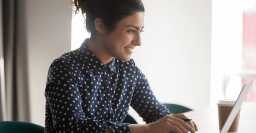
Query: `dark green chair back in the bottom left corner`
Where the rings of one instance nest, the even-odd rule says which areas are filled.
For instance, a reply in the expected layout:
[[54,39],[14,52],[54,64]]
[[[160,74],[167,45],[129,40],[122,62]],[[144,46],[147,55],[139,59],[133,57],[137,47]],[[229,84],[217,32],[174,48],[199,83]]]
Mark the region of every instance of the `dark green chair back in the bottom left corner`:
[[44,127],[29,122],[2,121],[1,133],[44,133]]

